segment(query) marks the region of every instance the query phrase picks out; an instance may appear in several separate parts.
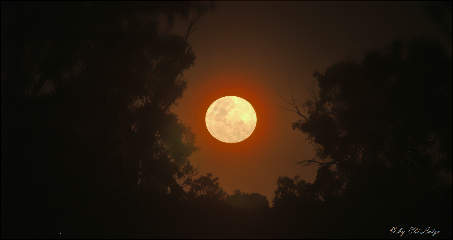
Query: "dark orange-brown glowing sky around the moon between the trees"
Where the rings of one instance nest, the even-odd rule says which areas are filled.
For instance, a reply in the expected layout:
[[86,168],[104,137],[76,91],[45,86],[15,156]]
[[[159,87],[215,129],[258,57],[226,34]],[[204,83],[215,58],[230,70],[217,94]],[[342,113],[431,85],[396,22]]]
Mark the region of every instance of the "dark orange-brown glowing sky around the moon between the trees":
[[[174,111],[197,135],[201,151],[191,159],[199,175],[212,173],[229,194],[257,192],[271,202],[280,176],[314,181],[316,166],[294,166],[287,156],[304,160],[314,152],[305,135],[291,128],[298,116],[279,109],[289,107],[279,86],[288,97],[291,82],[302,103],[314,70],[323,72],[345,59],[360,61],[365,51],[384,50],[395,38],[437,38],[451,52],[451,39],[424,14],[421,2],[216,4],[189,38],[196,65],[185,72],[188,89]],[[185,27],[179,22],[170,32]],[[256,129],[243,142],[222,143],[207,131],[206,110],[223,96],[242,97],[256,110]]]

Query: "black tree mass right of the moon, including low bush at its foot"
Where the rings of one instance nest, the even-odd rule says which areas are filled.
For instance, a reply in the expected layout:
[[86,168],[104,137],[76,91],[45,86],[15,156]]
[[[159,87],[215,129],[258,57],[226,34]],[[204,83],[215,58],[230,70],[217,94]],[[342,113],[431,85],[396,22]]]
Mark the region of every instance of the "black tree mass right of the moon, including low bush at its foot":
[[317,177],[311,185],[279,178],[276,206],[306,204],[308,196],[324,209],[372,212],[380,224],[398,214],[426,222],[434,218],[429,206],[451,209],[452,59],[439,43],[395,41],[387,53],[338,62],[313,77],[319,91],[310,89],[311,99],[285,101],[302,117],[293,129],[316,150],[315,158],[294,161],[318,165]]

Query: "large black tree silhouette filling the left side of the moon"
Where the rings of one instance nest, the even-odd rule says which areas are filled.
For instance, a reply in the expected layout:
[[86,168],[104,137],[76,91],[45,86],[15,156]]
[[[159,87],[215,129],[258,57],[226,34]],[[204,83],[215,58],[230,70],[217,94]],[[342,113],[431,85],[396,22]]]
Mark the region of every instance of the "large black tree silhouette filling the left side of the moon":
[[[181,197],[199,148],[171,108],[195,60],[188,35],[212,9],[2,3],[2,237],[126,234],[144,202]],[[186,35],[162,35],[158,14],[194,17]]]

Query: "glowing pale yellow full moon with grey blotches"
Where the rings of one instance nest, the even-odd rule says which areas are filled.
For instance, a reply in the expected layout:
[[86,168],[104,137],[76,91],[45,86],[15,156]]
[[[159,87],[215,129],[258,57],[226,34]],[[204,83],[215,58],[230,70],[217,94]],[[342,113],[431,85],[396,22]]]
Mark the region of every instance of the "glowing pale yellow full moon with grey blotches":
[[237,143],[255,130],[256,113],[251,104],[237,96],[224,96],[214,101],[206,112],[209,133],[224,143]]

